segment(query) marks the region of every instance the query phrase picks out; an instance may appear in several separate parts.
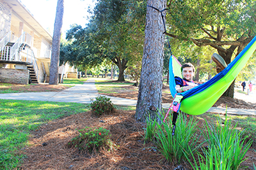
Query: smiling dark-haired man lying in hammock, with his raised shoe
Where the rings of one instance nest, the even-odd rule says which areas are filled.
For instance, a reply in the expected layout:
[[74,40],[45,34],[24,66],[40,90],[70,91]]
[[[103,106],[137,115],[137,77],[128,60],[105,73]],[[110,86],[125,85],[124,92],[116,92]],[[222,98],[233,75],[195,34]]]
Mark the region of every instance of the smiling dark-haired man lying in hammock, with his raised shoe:
[[[227,67],[225,60],[218,55],[218,53],[213,53],[211,58],[216,63],[217,73],[220,73]],[[198,84],[193,81],[193,77],[195,76],[195,67],[193,64],[189,62],[183,64],[181,66],[181,74],[182,78],[175,76],[176,90],[178,93],[185,92],[198,86]]]

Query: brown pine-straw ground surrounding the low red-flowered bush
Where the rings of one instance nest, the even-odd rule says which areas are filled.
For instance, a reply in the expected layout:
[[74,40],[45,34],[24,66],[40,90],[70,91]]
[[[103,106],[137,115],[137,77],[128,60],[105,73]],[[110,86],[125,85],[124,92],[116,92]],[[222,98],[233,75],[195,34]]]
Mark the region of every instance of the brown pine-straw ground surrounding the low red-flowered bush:
[[[22,148],[26,155],[19,169],[175,169],[182,166],[172,164],[156,149],[154,143],[143,144],[143,127],[137,122],[135,111],[118,111],[113,115],[100,118],[91,116],[90,111],[70,117],[61,118],[43,125],[32,132],[29,139],[30,147]],[[204,122],[200,120],[198,124]],[[111,134],[111,141],[118,146],[113,152],[101,150],[97,154],[81,154],[74,148],[68,148],[70,139],[77,136],[77,129],[89,127],[104,127]],[[255,152],[249,150],[242,166],[253,167],[256,162]]]

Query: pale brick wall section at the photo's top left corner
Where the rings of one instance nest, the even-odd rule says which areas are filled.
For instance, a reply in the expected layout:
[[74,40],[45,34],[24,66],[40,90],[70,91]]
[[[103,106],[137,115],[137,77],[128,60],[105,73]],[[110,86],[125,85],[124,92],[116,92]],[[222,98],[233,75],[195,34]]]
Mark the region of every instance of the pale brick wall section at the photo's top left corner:
[[0,40],[11,30],[12,8],[0,0]]

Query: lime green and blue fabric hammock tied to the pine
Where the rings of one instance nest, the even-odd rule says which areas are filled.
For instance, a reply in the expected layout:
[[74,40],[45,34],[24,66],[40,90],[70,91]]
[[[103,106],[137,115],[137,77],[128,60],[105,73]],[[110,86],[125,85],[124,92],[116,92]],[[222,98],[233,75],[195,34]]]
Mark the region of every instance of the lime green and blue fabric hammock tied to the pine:
[[[186,92],[177,93],[175,88],[174,76],[182,78],[180,73],[179,61],[171,55],[169,62],[169,85],[173,99],[173,111],[179,110],[188,113],[189,115],[201,115],[209,110],[221,95],[228,89],[231,83],[235,80],[237,74],[243,69],[248,59],[256,49],[256,36],[244,48],[237,57],[228,64],[211,80],[194,87]],[[174,109],[175,104],[177,108]],[[171,107],[170,107],[171,108]]]

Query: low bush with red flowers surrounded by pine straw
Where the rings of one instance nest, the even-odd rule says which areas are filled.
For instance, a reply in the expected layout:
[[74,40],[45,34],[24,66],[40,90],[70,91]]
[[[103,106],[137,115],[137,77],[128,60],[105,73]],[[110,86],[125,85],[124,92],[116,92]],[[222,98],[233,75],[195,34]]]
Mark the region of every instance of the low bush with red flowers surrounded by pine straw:
[[112,143],[109,137],[109,131],[102,127],[99,129],[85,127],[79,130],[79,135],[76,138],[71,139],[68,148],[78,148],[81,153],[97,152],[100,148],[111,148]]

